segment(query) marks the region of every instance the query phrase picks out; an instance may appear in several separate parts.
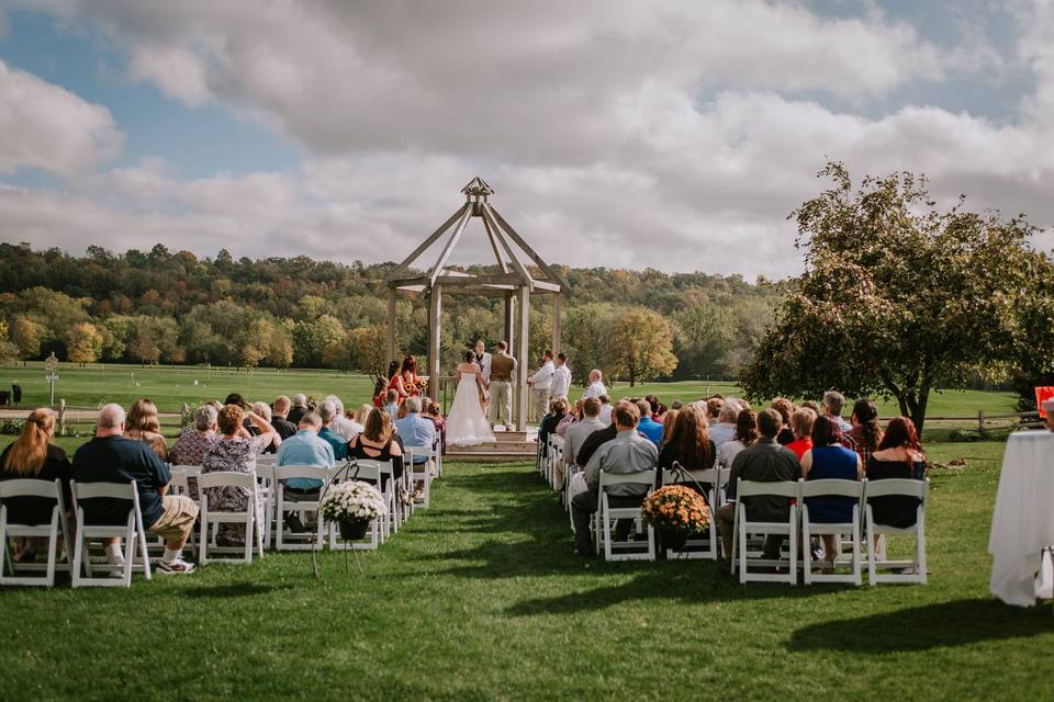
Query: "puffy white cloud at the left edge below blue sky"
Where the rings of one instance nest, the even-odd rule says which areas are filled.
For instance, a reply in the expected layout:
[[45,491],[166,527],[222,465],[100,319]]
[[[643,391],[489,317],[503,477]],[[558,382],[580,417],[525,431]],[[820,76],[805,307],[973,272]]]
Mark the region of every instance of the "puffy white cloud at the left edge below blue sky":
[[0,60],[0,173],[74,176],[116,157],[123,143],[105,106]]

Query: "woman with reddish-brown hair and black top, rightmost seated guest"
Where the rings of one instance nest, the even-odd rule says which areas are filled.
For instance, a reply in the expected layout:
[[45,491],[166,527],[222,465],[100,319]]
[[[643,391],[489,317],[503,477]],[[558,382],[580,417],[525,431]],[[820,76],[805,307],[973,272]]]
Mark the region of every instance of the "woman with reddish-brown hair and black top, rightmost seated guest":
[[[915,422],[907,417],[889,420],[878,450],[871,454],[866,464],[867,480],[926,478],[926,454],[919,443]],[[897,529],[913,526],[918,518],[919,500],[909,496],[889,495],[868,499],[871,513],[878,524]]]

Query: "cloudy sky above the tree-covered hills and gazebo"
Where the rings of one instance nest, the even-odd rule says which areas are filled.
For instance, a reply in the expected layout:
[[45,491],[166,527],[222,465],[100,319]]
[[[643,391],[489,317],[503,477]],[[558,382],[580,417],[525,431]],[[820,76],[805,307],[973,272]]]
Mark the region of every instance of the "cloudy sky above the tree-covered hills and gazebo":
[[1045,227],[1052,36],[1054,0],[0,0],[0,240],[399,260],[481,176],[552,262],[782,278],[828,158]]

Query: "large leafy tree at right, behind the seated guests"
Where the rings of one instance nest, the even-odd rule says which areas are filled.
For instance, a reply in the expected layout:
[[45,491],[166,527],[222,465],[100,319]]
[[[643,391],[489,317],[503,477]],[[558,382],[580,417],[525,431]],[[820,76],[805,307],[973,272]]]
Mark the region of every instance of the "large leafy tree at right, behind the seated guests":
[[924,178],[865,178],[841,163],[792,213],[805,273],[741,375],[752,398],[837,387],[895,397],[921,430],[930,393],[1007,374],[1020,310],[1038,306],[1033,227],[999,213],[935,210]]

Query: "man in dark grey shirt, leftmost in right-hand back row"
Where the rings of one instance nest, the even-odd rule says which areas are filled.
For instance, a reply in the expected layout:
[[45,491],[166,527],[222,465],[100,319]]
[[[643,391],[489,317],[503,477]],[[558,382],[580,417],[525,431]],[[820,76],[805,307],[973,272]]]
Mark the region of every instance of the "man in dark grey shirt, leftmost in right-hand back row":
[[[758,415],[758,442],[737,454],[732,461],[732,471],[728,477],[727,505],[717,509],[717,522],[721,532],[725,553],[732,554],[732,524],[736,520],[736,484],[739,478],[758,483],[783,483],[801,477],[801,464],[794,452],[776,442],[783,429],[783,420],[775,409],[765,409]],[[758,522],[786,522],[790,518],[790,500],[778,496],[759,496],[747,502],[747,519]],[[763,557],[774,559],[780,556],[784,536],[769,534],[765,539]]]

